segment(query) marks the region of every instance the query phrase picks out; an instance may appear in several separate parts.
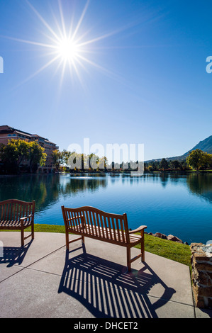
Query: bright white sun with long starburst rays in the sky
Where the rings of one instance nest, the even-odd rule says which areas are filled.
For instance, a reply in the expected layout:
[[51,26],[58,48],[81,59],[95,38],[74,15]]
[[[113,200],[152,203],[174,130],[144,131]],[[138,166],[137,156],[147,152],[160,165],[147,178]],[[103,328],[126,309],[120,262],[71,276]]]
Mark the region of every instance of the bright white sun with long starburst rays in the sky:
[[[30,9],[32,9],[32,11],[38,17],[40,23],[42,23],[43,25],[43,28],[45,28],[43,29],[45,42],[24,40],[11,37],[6,38],[16,40],[17,42],[21,43],[36,45],[37,47],[43,48],[43,50],[45,50],[45,55],[48,57],[48,62],[43,64],[43,66],[40,67],[37,72],[31,74],[28,79],[23,81],[23,83],[26,83],[26,81],[29,81],[50,66],[55,66],[55,72],[59,70],[61,71],[60,85],[62,84],[66,73],[69,73],[71,77],[76,74],[77,78],[82,84],[81,69],[84,69],[84,71],[87,72],[88,66],[96,67],[96,69],[101,71],[104,75],[113,79],[117,79],[116,75],[113,72],[97,64],[96,61],[92,60],[91,56],[96,53],[96,50],[98,50],[98,45],[96,46],[96,43],[98,43],[100,40],[104,40],[105,38],[109,38],[111,35],[119,33],[123,29],[111,31],[111,33],[106,33],[97,37],[95,33],[95,37],[88,38],[90,29],[83,30],[82,22],[84,21],[84,16],[87,13],[87,9],[89,7],[89,0],[87,0],[86,5],[84,6],[84,9],[81,16],[79,17],[79,21],[77,21],[76,26],[74,26],[74,22],[72,21],[71,17],[68,20],[65,20],[61,0],[58,0],[57,13],[59,14],[59,16],[53,13],[53,22],[56,23],[54,25],[48,23],[48,21],[46,21],[45,18],[40,15],[37,9],[35,9],[35,7],[30,4],[29,0],[25,1],[26,4],[30,6]],[[93,49],[92,45],[95,45]]]

